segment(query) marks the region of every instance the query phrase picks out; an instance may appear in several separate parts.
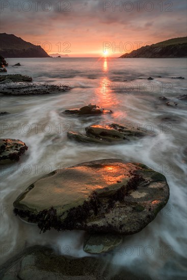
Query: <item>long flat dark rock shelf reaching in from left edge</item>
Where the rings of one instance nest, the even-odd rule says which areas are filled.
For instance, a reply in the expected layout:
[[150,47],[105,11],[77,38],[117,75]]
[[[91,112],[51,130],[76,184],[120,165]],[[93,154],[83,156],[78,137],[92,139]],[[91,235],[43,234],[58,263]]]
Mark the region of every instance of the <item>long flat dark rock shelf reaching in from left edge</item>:
[[70,88],[67,86],[12,82],[11,85],[9,85],[9,83],[4,83],[4,85],[1,86],[0,93],[5,95],[42,95],[61,93],[69,90]]

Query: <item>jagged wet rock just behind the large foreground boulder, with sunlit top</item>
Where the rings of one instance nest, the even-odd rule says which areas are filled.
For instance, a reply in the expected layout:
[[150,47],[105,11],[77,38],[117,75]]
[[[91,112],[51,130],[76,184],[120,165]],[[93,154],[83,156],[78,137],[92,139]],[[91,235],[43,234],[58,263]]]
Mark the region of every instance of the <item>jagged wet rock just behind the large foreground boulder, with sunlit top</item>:
[[101,144],[118,144],[137,140],[143,136],[154,136],[154,133],[142,129],[128,128],[120,124],[91,125],[85,128],[86,135],[68,131],[67,136],[79,142],[94,142]]

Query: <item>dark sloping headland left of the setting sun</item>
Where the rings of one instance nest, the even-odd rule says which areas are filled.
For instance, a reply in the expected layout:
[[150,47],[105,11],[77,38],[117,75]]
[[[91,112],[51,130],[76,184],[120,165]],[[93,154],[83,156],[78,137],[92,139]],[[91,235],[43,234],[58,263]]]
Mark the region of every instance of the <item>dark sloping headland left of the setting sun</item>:
[[41,47],[13,34],[0,33],[0,54],[4,58],[50,58]]

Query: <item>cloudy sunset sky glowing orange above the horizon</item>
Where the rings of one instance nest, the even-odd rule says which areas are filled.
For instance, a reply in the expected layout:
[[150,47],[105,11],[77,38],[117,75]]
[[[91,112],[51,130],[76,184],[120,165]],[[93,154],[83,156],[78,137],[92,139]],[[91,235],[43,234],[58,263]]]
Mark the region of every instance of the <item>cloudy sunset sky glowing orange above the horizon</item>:
[[1,0],[1,33],[69,57],[119,57],[186,36],[186,1]]

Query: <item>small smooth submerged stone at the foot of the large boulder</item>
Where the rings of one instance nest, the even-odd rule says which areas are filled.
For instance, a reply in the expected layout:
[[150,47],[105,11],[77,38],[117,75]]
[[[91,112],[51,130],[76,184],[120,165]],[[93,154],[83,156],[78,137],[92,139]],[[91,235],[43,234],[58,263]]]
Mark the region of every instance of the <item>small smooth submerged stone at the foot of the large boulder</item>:
[[84,251],[90,254],[108,252],[119,246],[122,241],[122,237],[116,234],[90,234],[84,242]]

